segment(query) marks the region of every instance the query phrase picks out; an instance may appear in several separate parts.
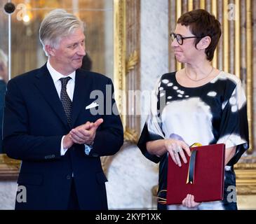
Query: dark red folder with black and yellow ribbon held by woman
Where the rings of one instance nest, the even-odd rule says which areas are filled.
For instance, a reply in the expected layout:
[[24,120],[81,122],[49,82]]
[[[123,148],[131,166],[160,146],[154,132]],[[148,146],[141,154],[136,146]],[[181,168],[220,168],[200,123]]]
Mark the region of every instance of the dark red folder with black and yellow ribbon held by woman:
[[168,156],[167,204],[182,204],[187,194],[194,195],[195,202],[223,199],[225,145],[214,144],[190,148],[196,151],[194,183],[187,183],[190,158],[178,167]]

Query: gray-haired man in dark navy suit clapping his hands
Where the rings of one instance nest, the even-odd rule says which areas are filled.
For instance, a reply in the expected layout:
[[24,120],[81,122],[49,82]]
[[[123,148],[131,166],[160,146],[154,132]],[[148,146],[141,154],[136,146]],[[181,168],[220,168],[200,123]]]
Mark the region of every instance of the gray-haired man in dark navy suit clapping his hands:
[[48,62],[11,79],[6,92],[3,144],[22,160],[18,189],[26,191],[15,209],[107,209],[100,156],[123,144],[112,81],[79,69],[85,36],[74,15],[51,11],[39,36]]

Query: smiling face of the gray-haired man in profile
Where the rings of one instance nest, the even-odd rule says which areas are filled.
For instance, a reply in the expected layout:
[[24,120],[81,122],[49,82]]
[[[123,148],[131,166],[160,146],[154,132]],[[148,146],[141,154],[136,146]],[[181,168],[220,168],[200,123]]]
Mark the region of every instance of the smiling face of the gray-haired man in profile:
[[50,50],[50,65],[62,73],[69,75],[82,65],[85,51],[85,36],[81,28],[74,29],[72,34],[60,40],[57,48]]

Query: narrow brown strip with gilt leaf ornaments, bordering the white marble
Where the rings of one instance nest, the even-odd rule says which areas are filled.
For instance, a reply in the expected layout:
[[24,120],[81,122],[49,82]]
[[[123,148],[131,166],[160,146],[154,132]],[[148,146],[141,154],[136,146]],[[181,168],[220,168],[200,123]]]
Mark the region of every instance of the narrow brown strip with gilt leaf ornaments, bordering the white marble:
[[[124,138],[136,144],[140,133],[137,99],[130,99],[128,91],[140,90],[140,1],[126,0],[126,130]],[[133,112],[130,114],[130,112]]]

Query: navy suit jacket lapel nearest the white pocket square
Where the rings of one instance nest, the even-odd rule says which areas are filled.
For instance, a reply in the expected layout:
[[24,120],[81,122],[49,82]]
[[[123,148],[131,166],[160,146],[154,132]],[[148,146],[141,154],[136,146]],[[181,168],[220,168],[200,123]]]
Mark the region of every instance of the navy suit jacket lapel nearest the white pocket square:
[[90,97],[91,86],[91,80],[88,76],[84,75],[80,69],[76,70],[76,83],[72,102],[72,127],[74,127],[76,118],[79,116],[81,109],[86,109],[86,99]]

